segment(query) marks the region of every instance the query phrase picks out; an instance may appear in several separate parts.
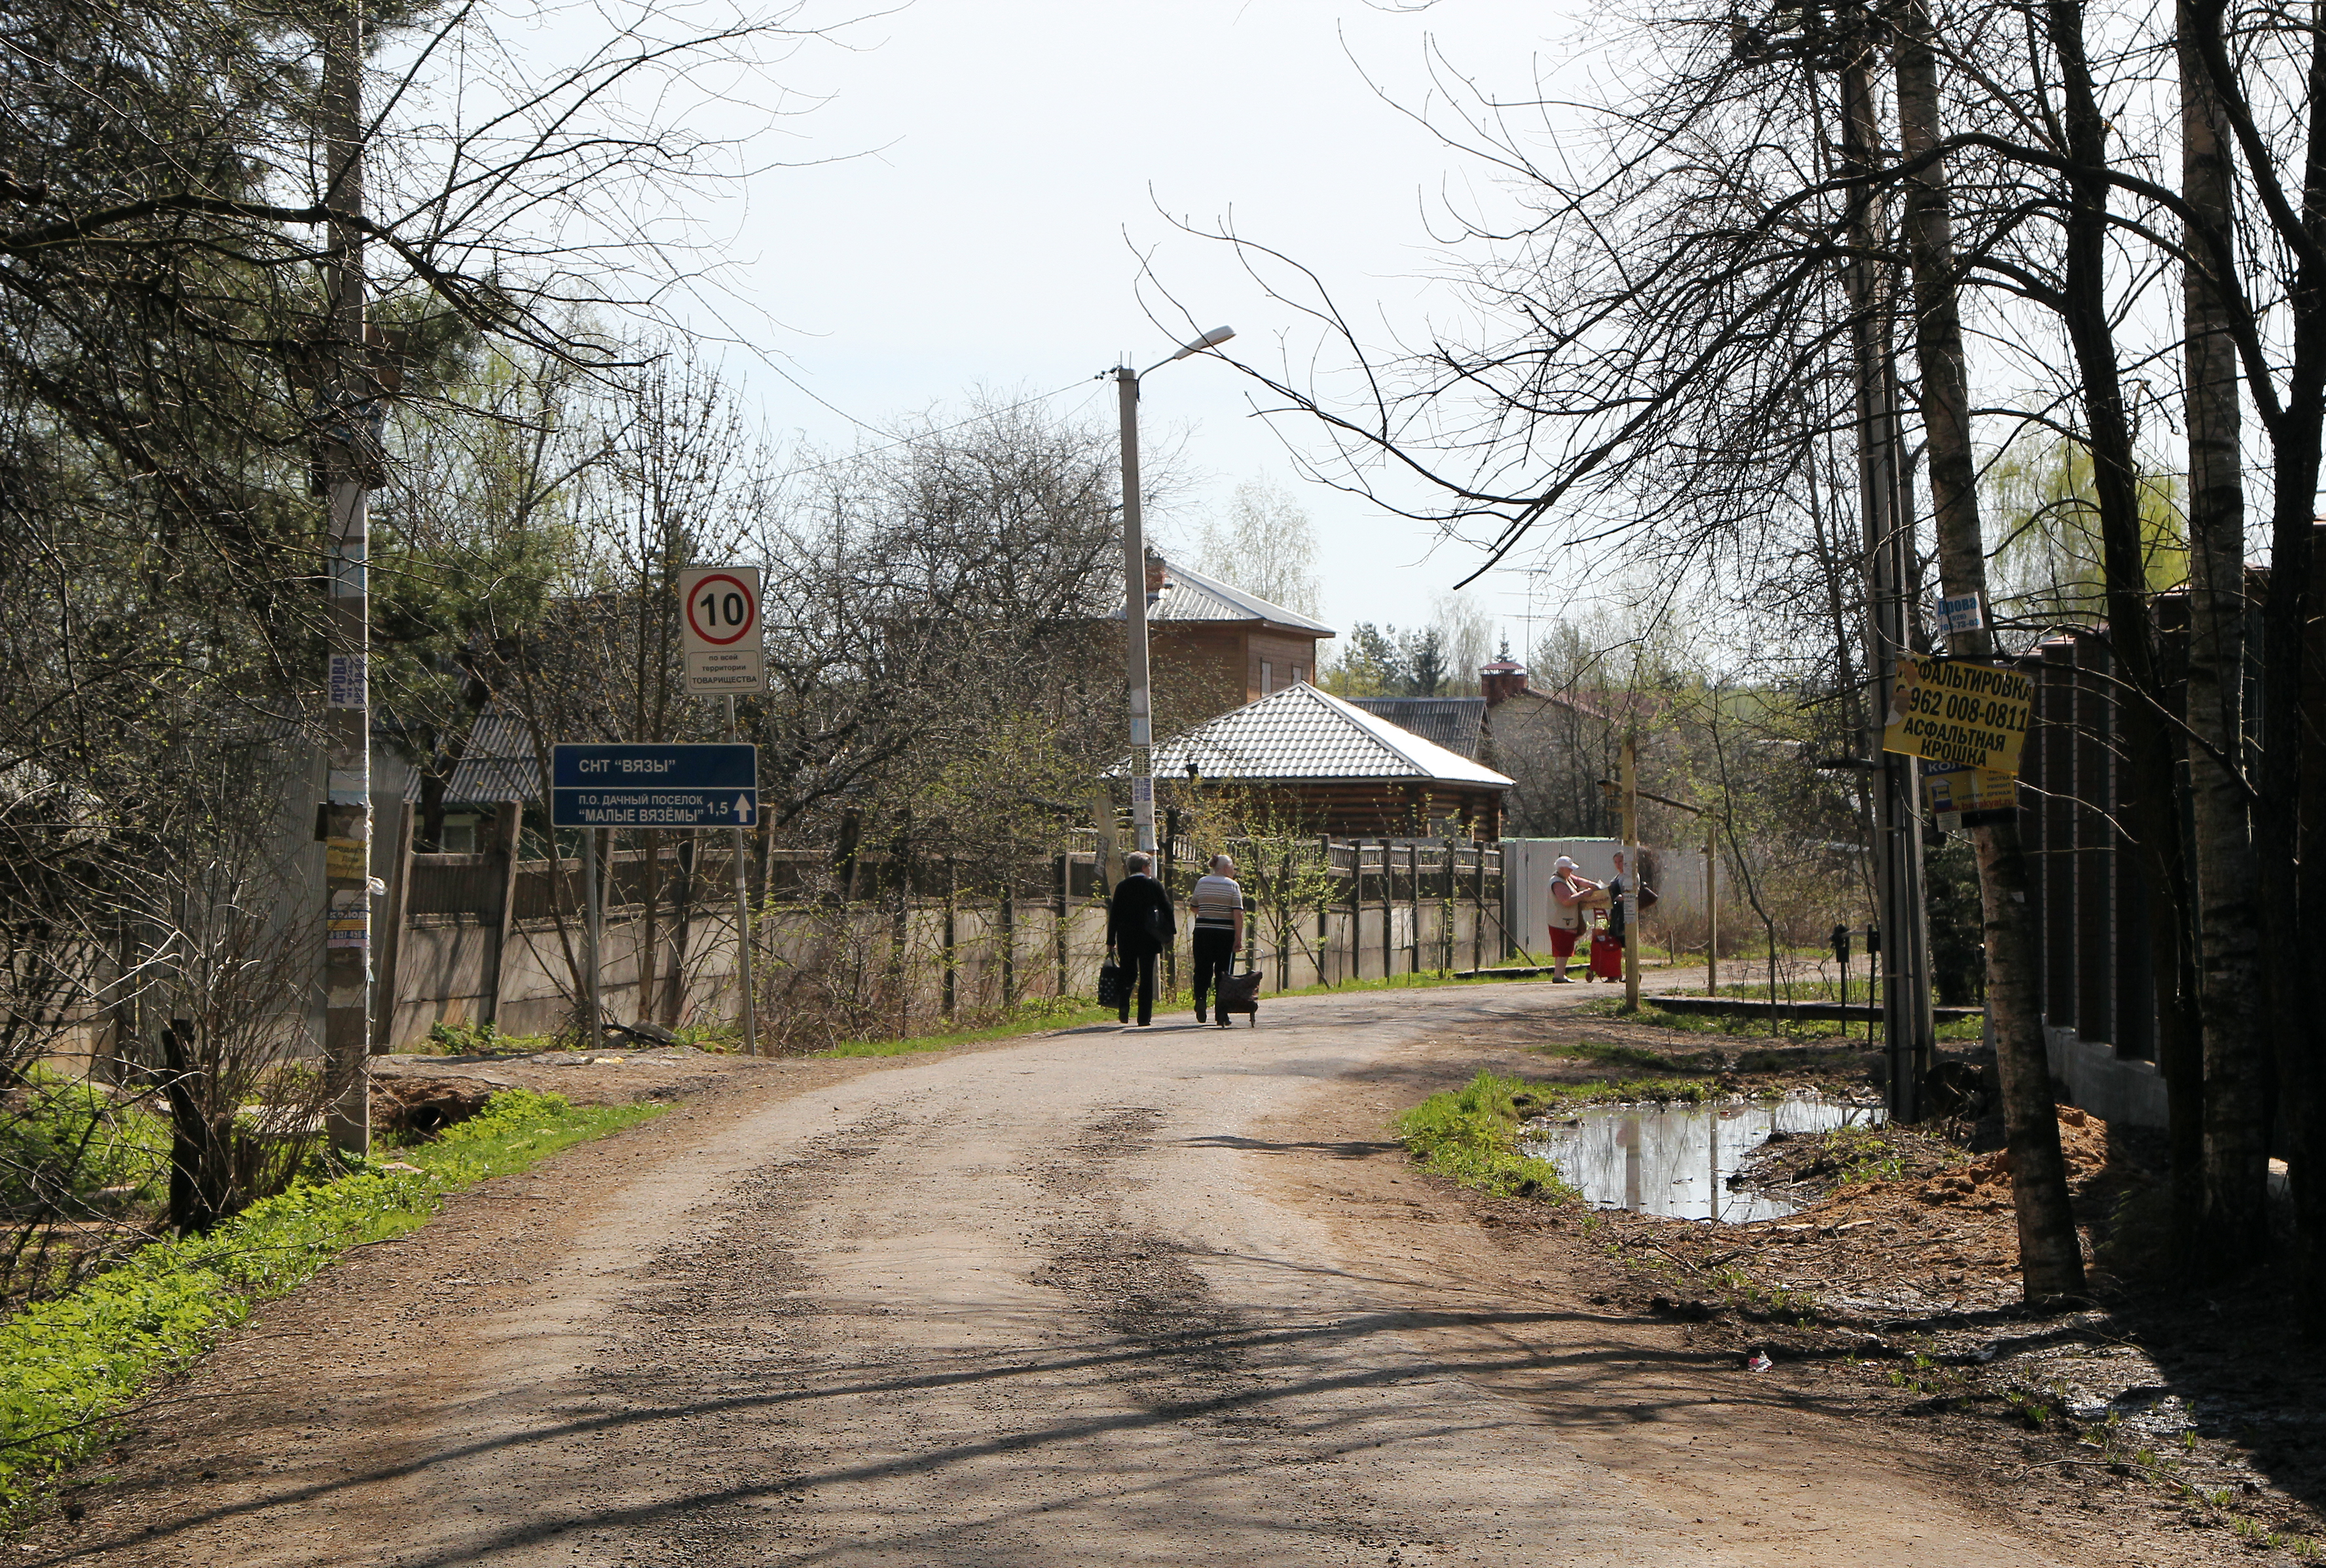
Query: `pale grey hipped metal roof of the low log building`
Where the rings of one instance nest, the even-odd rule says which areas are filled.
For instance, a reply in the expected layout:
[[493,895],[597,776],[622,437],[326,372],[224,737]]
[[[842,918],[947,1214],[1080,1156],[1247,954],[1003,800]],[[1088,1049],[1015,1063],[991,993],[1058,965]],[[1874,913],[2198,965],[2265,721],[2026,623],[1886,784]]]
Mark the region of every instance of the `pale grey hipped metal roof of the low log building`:
[[[1405,778],[1507,790],[1510,778],[1424,741],[1410,729],[1319,692],[1307,681],[1270,692],[1235,713],[1196,725],[1154,750],[1156,778],[1182,778],[1186,764],[1212,781]],[[1128,771],[1128,760],[1107,769]]]

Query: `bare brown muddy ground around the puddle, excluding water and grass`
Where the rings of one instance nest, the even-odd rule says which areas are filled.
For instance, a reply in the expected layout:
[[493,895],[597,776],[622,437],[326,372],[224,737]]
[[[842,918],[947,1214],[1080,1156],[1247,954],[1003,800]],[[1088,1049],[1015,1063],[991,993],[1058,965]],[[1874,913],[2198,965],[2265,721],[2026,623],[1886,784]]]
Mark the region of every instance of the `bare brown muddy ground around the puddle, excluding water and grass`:
[[[1658,1076],[1877,1099],[1865,1052],[1831,1041],[1565,1013],[1465,1043],[1477,1069],[1542,1085]],[[1419,1180],[1456,1194],[1507,1266],[1561,1268],[1586,1306],[1665,1324],[1744,1380],[1865,1422],[1868,1443],[1958,1468],[2012,1517],[2117,1535],[2128,1561],[2326,1559],[2326,1366],[2284,1326],[2270,1275],[2184,1289],[2156,1273],[2161,1138],[2063,1108],[2093,1294],[2035,1315],[2017,1303],[2007,1159],[1972,1152],[1998,1129],[1933,1131],[1777,1138],[1749,1180],[1798,1213],[1744,1224]],[[1756,1357],[1768,1371],[1747,1371]]]

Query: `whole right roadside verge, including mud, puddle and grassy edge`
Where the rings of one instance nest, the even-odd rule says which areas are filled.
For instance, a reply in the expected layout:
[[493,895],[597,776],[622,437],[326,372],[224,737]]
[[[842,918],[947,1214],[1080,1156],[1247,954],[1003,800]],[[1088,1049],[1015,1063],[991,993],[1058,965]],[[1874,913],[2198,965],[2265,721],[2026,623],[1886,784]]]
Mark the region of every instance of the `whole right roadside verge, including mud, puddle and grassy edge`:
[[[2231,1559],[2326,1561],[2321,1359],[2284,1326],[2277,1275],[2196,1289],[2156,1268],[2159,1134],[2061,1108],[2091,1299],[2038,1315],[2019,1306],[2010,1157],[1977,1094],[1893,1129],[1868,1052],[1838,1041],[1565,1015],[1496,1043],[1519,1071],[1435,1094],[1398,1131],[1477,1192],[1505,1245],[1575,1261],[1593,1306],[1912,1424],[2031,1512],[2140,1515]],[[1972,1050],[1956,1048],[1965,1069]]]

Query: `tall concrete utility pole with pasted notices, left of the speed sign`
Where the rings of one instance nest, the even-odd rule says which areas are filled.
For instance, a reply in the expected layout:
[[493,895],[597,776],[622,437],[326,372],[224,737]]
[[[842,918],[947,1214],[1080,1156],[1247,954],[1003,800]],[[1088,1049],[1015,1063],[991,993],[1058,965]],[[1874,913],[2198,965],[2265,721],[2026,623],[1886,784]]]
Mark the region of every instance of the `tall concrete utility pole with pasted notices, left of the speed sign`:
[[321,467],[328,497],[326,553],[326,794],[323,794],[323,1131],[335,1150],[372,1145],[365,1073],[372,1020],[372,706],[370,655],[370,479],[377,465],[372,413],[379,386],[363,341],[363,235],[337,214],[363,211],[363,7],[347,0],[323,37],[323,204],[330,318],[321,407]]

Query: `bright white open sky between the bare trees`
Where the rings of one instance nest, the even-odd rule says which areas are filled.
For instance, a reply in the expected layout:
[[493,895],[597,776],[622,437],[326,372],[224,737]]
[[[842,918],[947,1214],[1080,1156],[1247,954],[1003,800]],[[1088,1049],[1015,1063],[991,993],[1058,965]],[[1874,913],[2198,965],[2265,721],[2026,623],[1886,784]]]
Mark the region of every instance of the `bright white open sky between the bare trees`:
[[[1319,269],[1377,330],[1414,325],[1426,304],[1451,307],[1421,281],[1442,260],[1428,214],[1444,195],[1498,197],[1484,165],[1382,102],[1365,74],[1424,107],[1435,39],[1454,70],[1531,95],[1535,53],[1563,53],[1572,33],[1561,9],[1514,0],[1412,12],[1356,0],[919,0],[847,30],[851,51],[812,46],[779,67],[784,88],[828,98],[789,121],[800,139],[782,156],[861,156],[756,174],[735,214],[726,300],[712,300],[735,323],[768,323],[756,348],[870,425],[975,386],[1047,393],[1123,351],[1142,367],[1163,358],[1172,332],[1142,309],[1135,249],[1203,328],[1237,328],[1237,353],[1272,365],[1279,339],[1296,353],[1312,341],[1226,246],[1177,235],[1165,214],[1198,225],[1233,214],[1247,237]],[[1170,309],[1154,290],[1147,302]],[[856,439],[782,376],[744,355],[730,365],[749,374],[772,434]],[[1251,418],[1251,393],[1226,365],[1170,365],[1147,381],[1147,446],[1186,439],[1198,506],[1223,504],[1251,476],[1293,490],[1319,530],[1330,625],[1426,620],[1465,558],[1430,558],[1421,525],[1303,485],[1284,441]],[[1112,418],[1112,383],[1091,381],[1058,407]],[[1312,439],[1298,423],[1282,432]],[[1524,646],[1521,576],[1479,590]]]

